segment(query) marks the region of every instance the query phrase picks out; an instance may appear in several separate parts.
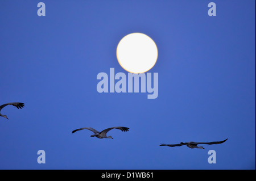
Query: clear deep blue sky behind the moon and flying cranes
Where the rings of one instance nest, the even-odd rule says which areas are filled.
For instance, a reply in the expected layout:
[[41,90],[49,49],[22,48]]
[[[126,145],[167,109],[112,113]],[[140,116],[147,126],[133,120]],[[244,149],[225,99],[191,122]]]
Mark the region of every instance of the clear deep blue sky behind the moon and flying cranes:
[[[255,1],[39,2],[0,2],[0,104],[25,103],[1,111],[0,169],[255,169]],[[158,47],[156,99],[97,92],[98,73],[127,74],[115,51],[133,32]],[[130,131],[71,134],[115,126]]]

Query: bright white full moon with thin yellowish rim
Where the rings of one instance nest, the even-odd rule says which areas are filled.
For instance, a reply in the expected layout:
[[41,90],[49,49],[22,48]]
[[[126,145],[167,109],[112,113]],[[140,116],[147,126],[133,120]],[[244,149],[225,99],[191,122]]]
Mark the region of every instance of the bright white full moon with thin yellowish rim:
[[117,60],[130,73],[144,73],[150,70],[158,59],[155,42],[143,33],[131,33],[119,41]]

